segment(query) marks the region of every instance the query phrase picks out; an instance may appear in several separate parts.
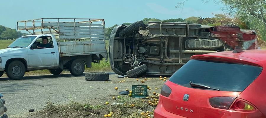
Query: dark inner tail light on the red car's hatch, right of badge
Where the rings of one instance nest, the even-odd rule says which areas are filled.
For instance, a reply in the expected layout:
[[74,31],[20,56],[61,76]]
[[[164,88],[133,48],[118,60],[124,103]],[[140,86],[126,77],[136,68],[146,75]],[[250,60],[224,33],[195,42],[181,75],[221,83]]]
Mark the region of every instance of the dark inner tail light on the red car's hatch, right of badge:
[[210,105],[214,108],[229,109],[236,97],[213,97],[210,98]]

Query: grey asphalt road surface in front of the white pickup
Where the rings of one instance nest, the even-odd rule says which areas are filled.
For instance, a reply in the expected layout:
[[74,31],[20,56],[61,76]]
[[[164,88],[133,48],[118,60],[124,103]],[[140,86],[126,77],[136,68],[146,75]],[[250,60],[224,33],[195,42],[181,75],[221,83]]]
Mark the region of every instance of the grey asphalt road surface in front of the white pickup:
[[[109,73],[109,81],[86,81],[85,75],[72,76],[71,74],[43,75],[43,76],[25,76],[21,80],[10,80],[6,77],[0,78],[0,93],[4,94],[7,106],[7,114],[9,118],[23,118],[34,112],[28,112],[29,109],[39,111],[44,108],[48,97],[50,101],[67,104],[70,98],[73,101],[87,103],[93,105],[103,105],[106,101],[113,102],[112,97],[118,96],[119,91],[125,89],[131,90],[132,85],[147,85],[152,88],[148,90],[160,93],[160,89],[164,81],[160,81],[159,77],[151,77],[152,79],[141,83],[134,78],[117,78],[115,73]],[[124,81],[119,83],[119,81]],[[114,88],[118,87],[119,90]],[[158,87],[155,90],[155,87]],[[126,96],[126,95],[125,95]]]

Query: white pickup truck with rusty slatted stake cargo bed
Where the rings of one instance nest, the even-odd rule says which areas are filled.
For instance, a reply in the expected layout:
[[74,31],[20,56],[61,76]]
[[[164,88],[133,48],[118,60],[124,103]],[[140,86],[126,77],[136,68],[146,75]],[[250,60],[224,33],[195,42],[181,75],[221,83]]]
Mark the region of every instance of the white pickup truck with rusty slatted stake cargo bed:
[[0,77],[6,73],[11,79],[20,79],[27,71],[43,69],[53,75],[63,70],[75,76],[83,74],[85,65],[89,68],[92,62],[107,58],[104,24],[104,19],[61,18],[17,22],[17,30],[32,35],[0,50]]

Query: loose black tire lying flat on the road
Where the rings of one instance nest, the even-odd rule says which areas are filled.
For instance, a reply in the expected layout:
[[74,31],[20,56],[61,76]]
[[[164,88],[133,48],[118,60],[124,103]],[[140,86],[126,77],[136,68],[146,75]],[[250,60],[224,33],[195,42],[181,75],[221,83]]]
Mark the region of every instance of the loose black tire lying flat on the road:
[[99,73],[99,72],[85,73],[85,80],[87,81],[108,81],[109,73]]

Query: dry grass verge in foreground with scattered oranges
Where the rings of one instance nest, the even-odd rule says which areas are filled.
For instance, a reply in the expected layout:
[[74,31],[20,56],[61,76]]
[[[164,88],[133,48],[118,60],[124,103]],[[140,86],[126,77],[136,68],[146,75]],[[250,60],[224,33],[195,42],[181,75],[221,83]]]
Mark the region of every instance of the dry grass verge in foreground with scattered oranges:
[[[62,96],[63,97],[63,96]],[[123,102],[124,105],[91,105],[89,103],[80,104],[69,99],[69,104],[56,104],[50,102],[48,98],[45,108],[36,112],[28,118],[103,118],[105,114],[113,114],[109,118],[147,118],[153,117],[153,114],[148,116],[140,115],[141,112],[146,112],[145,109],[154,109],[149,107],[147,103],[140,99],[132,100],[130,97],[121,97],[116,102]],[[134,107],[131,104],[135,104]]]

